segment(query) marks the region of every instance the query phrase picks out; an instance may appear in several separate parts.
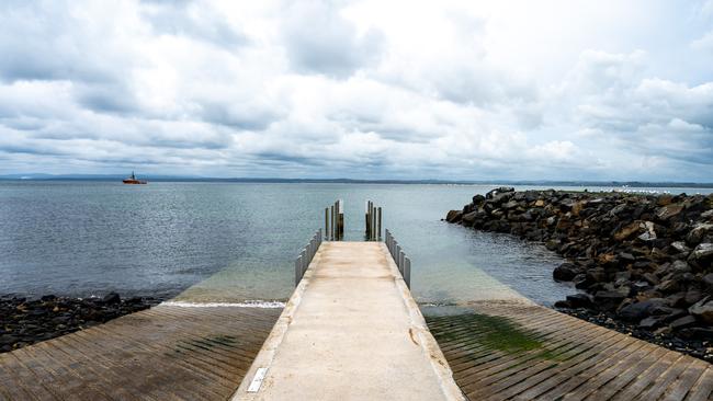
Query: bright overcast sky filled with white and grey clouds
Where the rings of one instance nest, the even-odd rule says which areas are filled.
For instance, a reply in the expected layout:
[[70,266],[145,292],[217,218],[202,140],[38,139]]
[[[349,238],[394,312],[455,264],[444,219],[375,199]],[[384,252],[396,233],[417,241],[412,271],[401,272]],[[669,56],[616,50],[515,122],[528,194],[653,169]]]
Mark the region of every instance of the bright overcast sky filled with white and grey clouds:
[[0,2],[0,174],[713,182],[713,0]]

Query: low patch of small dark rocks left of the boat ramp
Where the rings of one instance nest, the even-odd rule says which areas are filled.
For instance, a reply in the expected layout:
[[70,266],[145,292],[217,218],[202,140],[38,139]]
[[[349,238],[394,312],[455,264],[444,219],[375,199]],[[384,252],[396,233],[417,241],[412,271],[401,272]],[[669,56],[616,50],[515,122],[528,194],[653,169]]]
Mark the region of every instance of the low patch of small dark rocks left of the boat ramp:
[[87,299],[54,295],[32,300],[0,297],[0,352],[104,323],[158,302],[158,299],[150,297],[123,300],[116,293]]

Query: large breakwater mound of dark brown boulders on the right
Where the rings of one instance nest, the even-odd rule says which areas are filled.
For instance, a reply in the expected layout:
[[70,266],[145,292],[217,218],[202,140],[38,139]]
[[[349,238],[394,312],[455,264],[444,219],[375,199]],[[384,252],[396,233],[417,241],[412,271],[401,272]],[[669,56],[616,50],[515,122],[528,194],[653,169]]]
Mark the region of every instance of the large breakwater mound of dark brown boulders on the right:
[[713,340],[713,195],[516,192],[475,195],[449,222],[542,241],[582,291],[562,308],[607,312],[656,334]]

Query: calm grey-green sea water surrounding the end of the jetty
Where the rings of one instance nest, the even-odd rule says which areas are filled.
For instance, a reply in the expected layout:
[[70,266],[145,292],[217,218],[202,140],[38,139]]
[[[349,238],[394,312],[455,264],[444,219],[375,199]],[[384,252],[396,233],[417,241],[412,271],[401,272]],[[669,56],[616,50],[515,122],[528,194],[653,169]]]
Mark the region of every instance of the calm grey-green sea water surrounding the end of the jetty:
[[412,260],[421,302],[517,291],[550,305],[573,293],[552,280],[561,260],[542,245],[440,220],[491,187],[4,182],[0,294],[284,300],[294,257],[336,198],[344,199],[347,240],[362,239],[365,199],[383,206],[384,226]]

